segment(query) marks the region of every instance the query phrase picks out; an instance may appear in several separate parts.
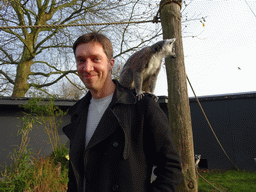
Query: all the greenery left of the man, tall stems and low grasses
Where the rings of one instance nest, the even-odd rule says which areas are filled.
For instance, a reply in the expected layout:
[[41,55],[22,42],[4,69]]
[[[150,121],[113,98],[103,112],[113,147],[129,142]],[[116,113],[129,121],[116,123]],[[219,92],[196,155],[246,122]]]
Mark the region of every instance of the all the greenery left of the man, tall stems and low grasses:
[[[30,113],[22,117],[23,126],[18,131],[21,144],[10,155],[13,161],[10,167],[0,173],[0,191],[67,191],[68,160],[65,156],[68,149],[59,144],[57,127],[60,120],[56,117],[65,115],[53,101],[49,105],[40,105],[41,101],[32,99],[28,105],[23,106]],[[54,144],[53,153],[49,157],[35,155],[28,148],[29,133],[35,124],[44,125],[50,141]],[[56,142],[57,140],[57,142]]]

